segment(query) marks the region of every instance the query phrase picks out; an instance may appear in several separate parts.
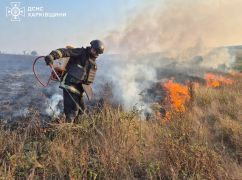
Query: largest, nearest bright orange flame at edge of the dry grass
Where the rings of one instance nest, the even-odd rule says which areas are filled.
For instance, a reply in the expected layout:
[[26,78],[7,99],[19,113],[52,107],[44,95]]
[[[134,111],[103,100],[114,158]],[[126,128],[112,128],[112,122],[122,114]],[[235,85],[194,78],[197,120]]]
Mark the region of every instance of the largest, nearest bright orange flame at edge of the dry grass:
[[163,87],[167,90],[167,100],[171,103],[171,107],[177,112],[184,112],[186,103],[190,100],[190,93],[187,86],[174,83],[173,80],[166,82]]

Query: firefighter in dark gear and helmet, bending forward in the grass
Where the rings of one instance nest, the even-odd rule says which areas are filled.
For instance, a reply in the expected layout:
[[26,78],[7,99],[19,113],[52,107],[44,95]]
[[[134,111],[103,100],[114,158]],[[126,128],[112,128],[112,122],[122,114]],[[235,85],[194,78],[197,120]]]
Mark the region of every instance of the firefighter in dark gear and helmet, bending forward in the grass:
[[90,85],[97,71],[96,59],[103,54],[104,44],[100,40],[93,40],[90,45],[86,48],[60,48],[45,56],[47,65],[52,65],[56,59],[70,58],[60,84],[67,122],[74,122],[78,115],[86,111],[83,93],[86,92],[89,99],[91,96]]

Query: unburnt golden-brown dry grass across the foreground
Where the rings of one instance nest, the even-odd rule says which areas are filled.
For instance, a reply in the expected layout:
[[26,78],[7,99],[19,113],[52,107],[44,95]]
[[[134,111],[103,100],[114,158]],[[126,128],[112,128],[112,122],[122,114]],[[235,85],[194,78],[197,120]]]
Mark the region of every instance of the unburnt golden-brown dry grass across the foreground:
[[0,129],[0,179],[242,179],[242,85],[201,87],[170,122],[106,106],[76,124]]

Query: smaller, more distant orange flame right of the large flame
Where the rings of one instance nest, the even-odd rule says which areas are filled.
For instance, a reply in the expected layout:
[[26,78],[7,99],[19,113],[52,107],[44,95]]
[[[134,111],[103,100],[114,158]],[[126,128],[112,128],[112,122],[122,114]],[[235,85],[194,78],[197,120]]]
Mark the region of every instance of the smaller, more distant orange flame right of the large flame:
[[218,76],[212,73],[205,74],[205,80],[208,87],[220,87],[222,85],[233,84],[233,80],[225,78],[223,76]]

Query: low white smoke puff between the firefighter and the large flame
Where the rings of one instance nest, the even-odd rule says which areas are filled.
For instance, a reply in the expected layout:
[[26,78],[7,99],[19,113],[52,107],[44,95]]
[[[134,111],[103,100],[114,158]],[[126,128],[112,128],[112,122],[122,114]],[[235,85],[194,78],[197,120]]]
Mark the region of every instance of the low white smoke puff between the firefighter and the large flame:
[[119,102],[120,100],[123,102],[126,109],[135,105],[143,106],[140,93],[149,88],[151,82],[156,80],[154,69],[143,64],[127,64],[122,69],[114,68],[114,71],[119,72],[112,78],[116,82],[114,96],[119,99]]

